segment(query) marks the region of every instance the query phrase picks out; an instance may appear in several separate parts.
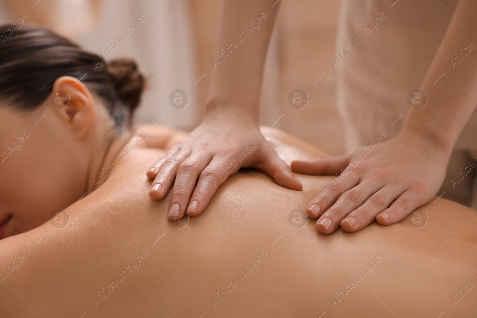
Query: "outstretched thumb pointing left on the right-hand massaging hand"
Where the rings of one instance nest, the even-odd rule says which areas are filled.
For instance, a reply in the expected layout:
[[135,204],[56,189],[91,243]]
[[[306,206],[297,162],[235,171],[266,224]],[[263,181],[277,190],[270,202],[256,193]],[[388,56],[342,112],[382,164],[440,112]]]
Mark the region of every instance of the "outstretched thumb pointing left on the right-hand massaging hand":
[[295,160],[291,162],[291,171],[299,174],[333,175],[340,174],[350,163],[351,156],[316,159],[313,161]]

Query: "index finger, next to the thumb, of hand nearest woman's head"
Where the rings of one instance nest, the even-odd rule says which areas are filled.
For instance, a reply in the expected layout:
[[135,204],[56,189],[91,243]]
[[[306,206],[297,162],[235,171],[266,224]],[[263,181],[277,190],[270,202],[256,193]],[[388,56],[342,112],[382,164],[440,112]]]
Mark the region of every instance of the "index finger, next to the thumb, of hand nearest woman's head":
[[230,165],[232,161],[233,157],[218,155],[210,161],[210,164],[200,174],[194,193],[190,198],[186,210],[188,215],[195,216],[204,211],[218,187],[227,180],[229,175],[235,174],[239,170],[240,167],[237,164]]

